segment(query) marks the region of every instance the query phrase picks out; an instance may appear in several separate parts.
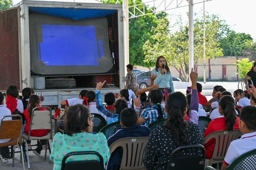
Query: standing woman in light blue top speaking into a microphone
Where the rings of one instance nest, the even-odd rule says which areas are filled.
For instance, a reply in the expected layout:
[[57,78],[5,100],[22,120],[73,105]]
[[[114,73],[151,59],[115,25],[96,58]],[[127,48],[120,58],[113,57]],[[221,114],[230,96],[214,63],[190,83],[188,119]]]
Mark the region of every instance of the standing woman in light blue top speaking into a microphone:
[[154,85],[159,84],[159,89],[162,90],[166,100],[167,96],[174,92],[174,87],[167,61],[163,56],[159,56],[156,59],[155,68],[152,70],[152,74],[156,75]]

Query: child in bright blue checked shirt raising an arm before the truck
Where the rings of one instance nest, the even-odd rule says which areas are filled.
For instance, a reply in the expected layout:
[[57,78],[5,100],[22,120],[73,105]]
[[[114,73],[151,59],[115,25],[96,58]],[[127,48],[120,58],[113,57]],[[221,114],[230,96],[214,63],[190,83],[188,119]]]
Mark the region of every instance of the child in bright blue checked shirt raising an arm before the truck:
[[115,114],[111,113],[110,111],[108,111],[102,104],[102,99],[101,99],[101,94],[100,94],[100,90],[103,87],[105,81],[103,83],[98,82],[96,85],[96,107],[97,109],[106,117],[108,117],[108,122],[107,124],[113,123],[113,122],[117,122],[120,120],[120,113],[123,109],[128,107],[128,104],[125,100],[123,99],[118,99],[115,104],[114,104],[114,111]]

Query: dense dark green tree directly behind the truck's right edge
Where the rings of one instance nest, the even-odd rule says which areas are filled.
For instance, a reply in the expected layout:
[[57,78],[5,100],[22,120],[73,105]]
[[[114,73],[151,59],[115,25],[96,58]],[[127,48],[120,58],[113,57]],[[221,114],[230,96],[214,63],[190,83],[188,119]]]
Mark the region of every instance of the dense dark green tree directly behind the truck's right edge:
[[[103,3],[115,3],[116,0],[101,0]],[[122,4],[122,0],[118,1]],[[135,4],[142,4],[142,0],[129,0],[129,6]],[[143,5],[137,5],[137,8],[143,11]],[[144,11],[145,13],[150,13],[152,10],[147,7]],[[135,10],[136,14],[140,14],[139,11]],[[130,14],[129,14],[130,15]],[[145,63],[143,44],[152,36],[151,28],[157,25],[156,20],[159,18],[166,17],[165,12],[160,12],[157,14],[147,14],[135,18],[129,19],[129,63],[133,65],[141,65],[144,67],[150,67],[150,64]]]

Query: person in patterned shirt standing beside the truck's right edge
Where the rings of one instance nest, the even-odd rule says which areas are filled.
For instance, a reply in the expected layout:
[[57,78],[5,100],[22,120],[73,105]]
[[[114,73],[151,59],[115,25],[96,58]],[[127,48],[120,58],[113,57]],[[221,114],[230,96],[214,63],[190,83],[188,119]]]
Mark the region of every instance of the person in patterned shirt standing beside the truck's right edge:
[[127,74],[125,76],[125,88],[132,90],[136,94],[138,90],[137,75],[134,71],[132,71],[133,66],[131,64],[127,64],[126,68]]

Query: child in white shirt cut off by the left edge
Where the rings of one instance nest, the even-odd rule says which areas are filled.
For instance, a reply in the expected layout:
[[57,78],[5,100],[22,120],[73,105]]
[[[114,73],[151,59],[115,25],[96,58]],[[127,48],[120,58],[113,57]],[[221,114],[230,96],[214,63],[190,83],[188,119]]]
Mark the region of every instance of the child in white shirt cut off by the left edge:
[[[3,96],[2,92],[0,92],[0,119],[3,116],[11,115],[10,110],[6,107],[3,107],[3,103],[4,103],[4,96]],[[7,117],[4,120],[11,120],[11,117]],[[0,139],[0,144],[8,142],[9,140],[10,139]],[[1,158],[2,162],[7,163],[8,158],[9,158],[9,148],[8,147],[0,147],[0,155],[2,156],[2,158]]]

